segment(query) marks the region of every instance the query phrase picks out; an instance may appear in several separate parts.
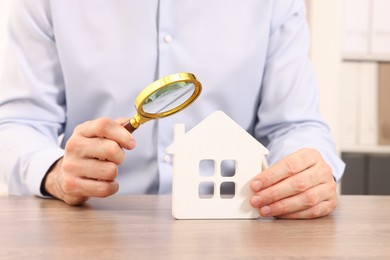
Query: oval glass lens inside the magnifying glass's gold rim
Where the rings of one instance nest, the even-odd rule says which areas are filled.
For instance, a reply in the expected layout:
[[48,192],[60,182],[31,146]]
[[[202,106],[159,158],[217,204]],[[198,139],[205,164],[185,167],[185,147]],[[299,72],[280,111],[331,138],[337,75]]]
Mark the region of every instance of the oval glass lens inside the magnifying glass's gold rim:
[[159,89],[142,105],[142,109],[148,114],[160,114],[175,109],[186,102],[195,91],[192,82],[176,82]]

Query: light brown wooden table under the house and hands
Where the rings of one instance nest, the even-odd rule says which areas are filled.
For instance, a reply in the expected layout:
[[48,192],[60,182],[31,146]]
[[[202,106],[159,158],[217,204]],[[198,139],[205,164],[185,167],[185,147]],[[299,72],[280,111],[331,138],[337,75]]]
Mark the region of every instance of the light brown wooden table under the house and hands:
[[390,259],[390,196],[315,220],[174,220],[170,200],[1,197],[0,259]]

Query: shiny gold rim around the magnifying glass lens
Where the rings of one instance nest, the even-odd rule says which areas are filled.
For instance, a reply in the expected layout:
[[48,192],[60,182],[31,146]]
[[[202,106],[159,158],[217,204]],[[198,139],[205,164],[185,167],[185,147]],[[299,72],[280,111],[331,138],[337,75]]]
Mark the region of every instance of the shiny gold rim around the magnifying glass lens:
[[[185,102],[183,102],[182,104],[180,104],[179,106],[177,106],[173,109],[170,109],[168,111],[164,111],[161,113],[152,114],[152,113],[147,113],[143,110],[143,105],[144,105],[145,101],[151,95],[153,95],[154,93],[156,93],[157,91],[161,90],[164,87],[167,87],[169,85],[172,85],[172,84],[175,84],[178,82],[193,83],[195,86],[194,92]],[[136,121],[138,121],[139,124],[143,124],[151,119],[157,119],[157,118],[162,118],[162,117],[172,115],[172,114],[186,108],[190,104],[192,104],[196,100],[196,98],[199,96],[201,91],[202,91],[202,84],[196,79],[195,75],[192,73],[180,72],[180,73],[176,73],[176,74],[172,74],[172,75],[168,75],[168,76],[165,76],[163,78],[160,78],[160,79],[156,80],[155,82],[151,83],[150,85],[148,85],[145,89],[143,89],[138,94],[138,96],[135,100],[135,107],[137,109],[137,114],[139,115],[139,117],[137,118],[138,120],[136,119]]]

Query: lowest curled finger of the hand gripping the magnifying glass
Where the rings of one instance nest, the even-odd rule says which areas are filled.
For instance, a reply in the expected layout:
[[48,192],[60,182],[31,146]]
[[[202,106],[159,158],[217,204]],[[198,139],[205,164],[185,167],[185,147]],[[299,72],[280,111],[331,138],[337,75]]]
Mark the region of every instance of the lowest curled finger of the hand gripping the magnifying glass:
[[64,182],[65,197],[99,197],[104,198],[115,194],[119,184],[115,181],[99,181],[88,178],[69,178]]

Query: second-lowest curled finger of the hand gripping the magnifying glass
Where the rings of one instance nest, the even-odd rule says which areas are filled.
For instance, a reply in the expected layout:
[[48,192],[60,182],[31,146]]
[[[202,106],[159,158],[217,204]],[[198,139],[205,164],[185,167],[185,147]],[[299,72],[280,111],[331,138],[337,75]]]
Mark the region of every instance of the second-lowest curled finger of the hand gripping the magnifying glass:
[[63,170],[74,177],[113,181],[118,176],[118,166],[109,161],[97,159],[64,160]]

